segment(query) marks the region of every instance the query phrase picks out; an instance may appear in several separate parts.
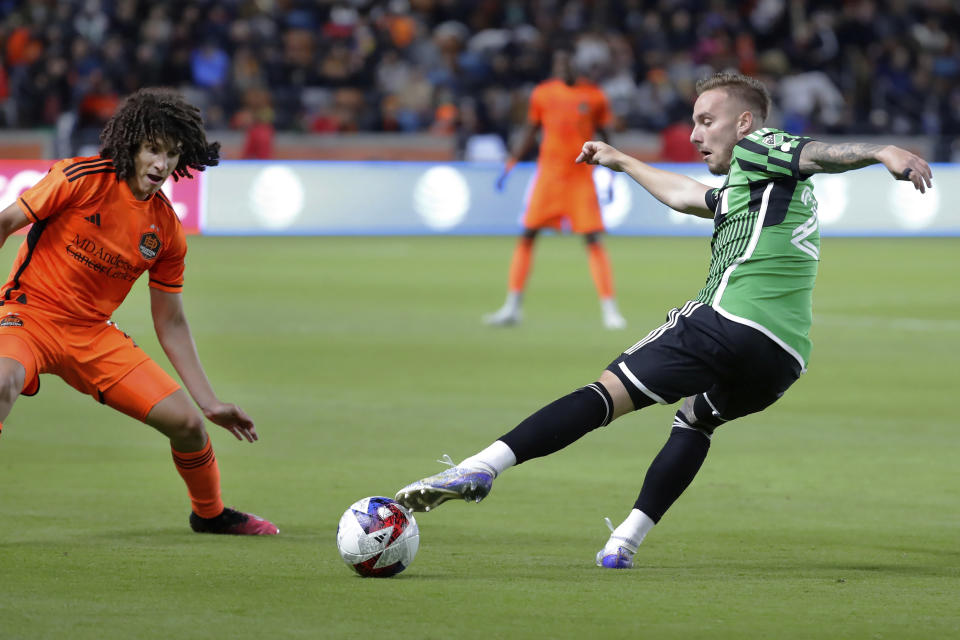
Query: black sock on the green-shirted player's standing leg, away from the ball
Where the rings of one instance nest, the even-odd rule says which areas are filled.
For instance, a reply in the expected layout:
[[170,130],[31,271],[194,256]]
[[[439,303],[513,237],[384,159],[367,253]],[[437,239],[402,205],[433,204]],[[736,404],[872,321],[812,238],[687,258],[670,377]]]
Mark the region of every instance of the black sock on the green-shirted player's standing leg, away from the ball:
[[634,508],[660,522],[670,505],[690,486],[709,450],[710,439],[700,431],[674,427],[647,469]]

